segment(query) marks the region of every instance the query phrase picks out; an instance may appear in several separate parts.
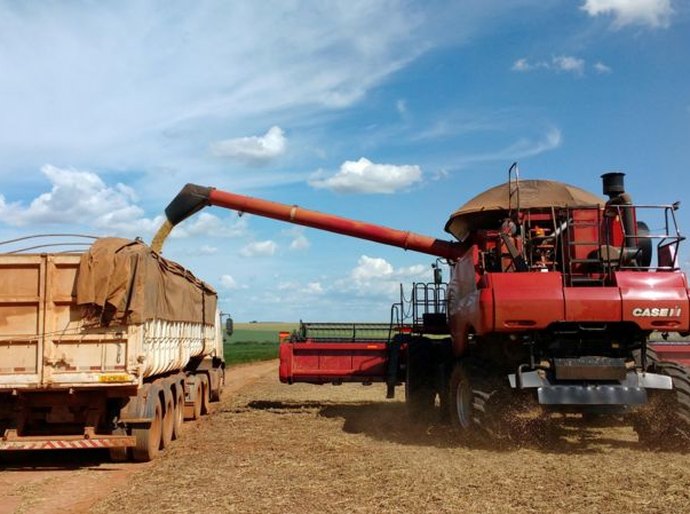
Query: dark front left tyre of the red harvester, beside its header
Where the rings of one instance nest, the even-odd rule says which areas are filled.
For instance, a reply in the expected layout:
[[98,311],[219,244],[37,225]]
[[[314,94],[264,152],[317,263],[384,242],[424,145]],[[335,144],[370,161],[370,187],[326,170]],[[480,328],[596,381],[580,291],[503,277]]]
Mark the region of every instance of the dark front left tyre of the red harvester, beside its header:
[[405,406],[413,421],[427,422],[434,414],[436,389],[431,343],[413,337],[407,343],[405,371]]

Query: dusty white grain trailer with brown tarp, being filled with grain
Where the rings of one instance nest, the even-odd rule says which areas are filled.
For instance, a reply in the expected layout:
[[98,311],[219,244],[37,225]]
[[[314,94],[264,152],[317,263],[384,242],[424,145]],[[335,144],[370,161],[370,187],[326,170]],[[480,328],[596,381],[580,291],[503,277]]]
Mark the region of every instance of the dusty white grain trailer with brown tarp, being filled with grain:
[[151,460],[223,377],[215,292],[143,243],[0,255],[0,451]]

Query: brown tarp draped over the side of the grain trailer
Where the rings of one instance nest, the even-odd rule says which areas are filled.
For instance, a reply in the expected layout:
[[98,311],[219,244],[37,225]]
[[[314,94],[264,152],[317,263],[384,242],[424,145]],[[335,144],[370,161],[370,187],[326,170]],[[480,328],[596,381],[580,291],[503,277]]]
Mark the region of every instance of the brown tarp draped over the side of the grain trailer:
[[98,239],[79,264],[77,304],[102,324],[151,319],[215,323],[215,291],[142,242]]

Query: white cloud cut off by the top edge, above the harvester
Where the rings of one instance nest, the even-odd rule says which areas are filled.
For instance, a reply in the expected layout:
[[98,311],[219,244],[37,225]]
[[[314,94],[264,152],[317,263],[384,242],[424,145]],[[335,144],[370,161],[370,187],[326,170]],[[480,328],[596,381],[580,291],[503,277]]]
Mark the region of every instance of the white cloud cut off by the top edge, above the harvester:
[[616,29],[626,25],[666,28],[673,14],[671,0],[585,0],[581,9],[590,16],[613,16]]

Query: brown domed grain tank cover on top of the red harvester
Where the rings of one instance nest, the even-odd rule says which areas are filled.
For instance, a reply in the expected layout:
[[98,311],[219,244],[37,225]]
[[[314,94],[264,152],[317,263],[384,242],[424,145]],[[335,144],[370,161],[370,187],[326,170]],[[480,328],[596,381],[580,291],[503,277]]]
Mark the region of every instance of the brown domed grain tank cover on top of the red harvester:
[[[515,183],[512,183],[515,187]],[[591,207],[604,205],[598,196],[555,180],[520,180],[520,209]],[[513,208],[517,206],[513,196]],[[501,184],[472,198],[451,214],[446,232],[463,241],[478,228],[497,228],[509,209],[509,184]]]

